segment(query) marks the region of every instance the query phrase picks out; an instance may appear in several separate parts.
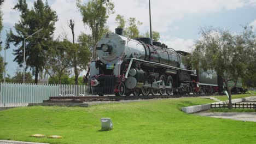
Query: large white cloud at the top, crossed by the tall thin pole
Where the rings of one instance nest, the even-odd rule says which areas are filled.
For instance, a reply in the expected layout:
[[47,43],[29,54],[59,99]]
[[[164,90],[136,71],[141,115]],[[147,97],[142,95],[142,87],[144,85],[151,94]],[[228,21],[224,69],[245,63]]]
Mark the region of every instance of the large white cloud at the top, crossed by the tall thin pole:
[[[136,17],[137,20],[143,22],[143,25],[139,27],[142,32],[149,30],[148,1],[114,0],[114,4],[116,13],[111,15],[108,21],[111,29],[117,26],[114,23],[114,19],[117,14],[120,14],[126,18]],[[200,15],[202,13],[215,13],[222,9],[237,9],[243,7],[245,4],[246,2],[242,0],[152,0],[152,26],[155,31],[162,33],[173,27],[174,21],[183,19],[185,15]]]

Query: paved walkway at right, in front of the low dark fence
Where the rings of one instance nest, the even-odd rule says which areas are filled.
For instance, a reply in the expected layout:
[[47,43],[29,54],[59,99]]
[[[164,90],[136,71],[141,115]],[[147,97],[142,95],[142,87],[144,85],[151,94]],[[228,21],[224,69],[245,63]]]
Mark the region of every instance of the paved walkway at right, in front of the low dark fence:
[[200,112],[197,115],[256,122],[256,112]]

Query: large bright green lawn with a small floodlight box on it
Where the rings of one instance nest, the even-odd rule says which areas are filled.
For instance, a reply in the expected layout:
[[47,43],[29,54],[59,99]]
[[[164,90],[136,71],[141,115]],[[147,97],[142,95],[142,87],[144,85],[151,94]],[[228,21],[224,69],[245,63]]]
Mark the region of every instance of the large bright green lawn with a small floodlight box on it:
[[[49,143],[255,143],[256,123],[189,115],[181,107],[200,98],[100,104],[91,107],[18,107],[0,111],[0,139]],[[100,118],[114,127],[101,131]],[[63,139],[29,137],[61,135]]]

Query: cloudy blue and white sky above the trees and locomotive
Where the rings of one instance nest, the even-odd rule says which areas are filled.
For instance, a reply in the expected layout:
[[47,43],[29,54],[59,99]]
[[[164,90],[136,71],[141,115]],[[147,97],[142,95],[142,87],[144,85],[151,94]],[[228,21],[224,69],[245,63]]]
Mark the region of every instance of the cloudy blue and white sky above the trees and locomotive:
[[[1,40],[4,42],[6,31],[14,30],[14,25],[20,20],[20,12],[13,7],[18,0],[5,0],[2,5],[3,30]],[[88,0],[82,1],[86,3]],[[109,16],[106,23],[114,32],[117,27],[115,17],[120,14],[126,19],[135,17],[143,24],[139,26],[141,34],[149,31],[149,5],[147,0],[112,0],[115,13]],[[33,7],[33,0],[27,0],[28,8]],[[43,0],[45,2],[45,0]],[[151,0],[152,30],[160,32],[160,42],[175,50],[191,51],[194,41],[200,38],[200,29],[217,27],[240,33],[242,26],[253,26],[256,31],[256,0]],[[82,21],[82,15],[75,5],[75,0],[48,0],[50,7],[56,11],[59,21],[55,23],[54,38],[63,32],[72,40],[71,30],[67,23],[75,22],[75,38],[84,32],[90,33]],[[2,44],[4,47],[4,43]],[[7,74],[14,76],[18,64],[13,62],[13,50],[6,51]],[[4,51],[1,51],[4,56]],[[22,68],[19,68],[22,70]]]

